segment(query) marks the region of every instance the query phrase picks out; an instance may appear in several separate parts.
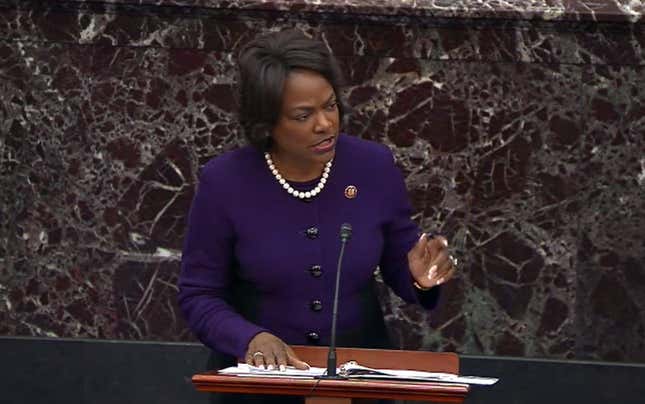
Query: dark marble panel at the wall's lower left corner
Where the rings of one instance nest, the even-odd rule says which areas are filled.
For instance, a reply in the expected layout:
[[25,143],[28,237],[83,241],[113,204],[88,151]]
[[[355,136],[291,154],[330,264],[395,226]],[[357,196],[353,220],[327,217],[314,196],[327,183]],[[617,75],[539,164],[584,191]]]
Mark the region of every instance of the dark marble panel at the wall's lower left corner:
[[1,278],[4,335],[114,338],[113,254],[80,248],[13,254],[4,257]]

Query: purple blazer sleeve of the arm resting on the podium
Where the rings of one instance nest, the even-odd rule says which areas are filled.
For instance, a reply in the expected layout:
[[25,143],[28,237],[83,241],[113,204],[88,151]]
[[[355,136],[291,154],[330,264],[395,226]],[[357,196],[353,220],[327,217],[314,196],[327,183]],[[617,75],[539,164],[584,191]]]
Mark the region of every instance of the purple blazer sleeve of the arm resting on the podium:
[[242,358],[250,340],[266,330],[247,321],[227,301],[235,233],[222,189],[206,170],[202,173],[188,215],[178,300],[189,327],[204,345]]

